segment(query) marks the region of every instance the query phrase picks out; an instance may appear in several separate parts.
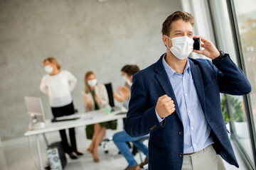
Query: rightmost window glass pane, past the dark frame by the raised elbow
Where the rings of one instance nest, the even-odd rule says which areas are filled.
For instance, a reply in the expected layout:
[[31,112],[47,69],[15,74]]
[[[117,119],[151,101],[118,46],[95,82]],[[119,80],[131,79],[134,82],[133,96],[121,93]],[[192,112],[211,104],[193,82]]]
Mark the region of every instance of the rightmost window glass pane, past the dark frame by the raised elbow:
[[[235,0],[233,3],[235,6],[236,21],[238,23],[245,71],[252,85],[249,104],[252,111],[252,125],[254,125],[256,121],[256,1]],[[249,152],[249,148],[246,149]]]

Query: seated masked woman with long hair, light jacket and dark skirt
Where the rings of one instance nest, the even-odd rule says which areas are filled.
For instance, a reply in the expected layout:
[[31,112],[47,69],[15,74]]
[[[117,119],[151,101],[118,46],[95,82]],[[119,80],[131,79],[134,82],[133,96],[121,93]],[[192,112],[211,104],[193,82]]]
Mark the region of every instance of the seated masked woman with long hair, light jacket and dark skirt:
[[[85,90],[82,91],[82,101],[85,111],[95,111],[109,106],[107,90],[103,84],[97,84],[97,79],[93,72],[85,74]],[[100,161],[97,148],[102,142],[107,129],[117,129],[117,120],[87,125],[86,127],[87,139],[92,139],[87,151],[92,153],[94,162]]]

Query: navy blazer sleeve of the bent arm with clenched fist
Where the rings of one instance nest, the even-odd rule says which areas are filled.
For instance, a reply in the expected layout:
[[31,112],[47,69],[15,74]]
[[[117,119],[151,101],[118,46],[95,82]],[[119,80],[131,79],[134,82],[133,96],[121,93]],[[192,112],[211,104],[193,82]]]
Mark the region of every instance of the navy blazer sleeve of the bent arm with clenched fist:
[[143,77],[134,75],[129,111],[124,123],[124,130],[132,137],[139,137],[161,128],[156,117],[155,106],[149,108],[147,91],[144,88]]

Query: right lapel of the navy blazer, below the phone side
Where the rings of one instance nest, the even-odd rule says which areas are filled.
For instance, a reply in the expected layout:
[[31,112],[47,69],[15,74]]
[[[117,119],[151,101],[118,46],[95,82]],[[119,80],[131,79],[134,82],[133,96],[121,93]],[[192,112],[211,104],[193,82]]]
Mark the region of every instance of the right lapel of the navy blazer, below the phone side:
[[197,64],[194,64],[193,61],[189,60],[189,64],[191,65],[191,73],[193,77],[193,82],[196,86],[196,92],[198,94],[199,101],[201,103],[201,107],[203,109],[203,113],[206,111],[206,103],[205,103],[205,94],[204,94],[204,86],[203,79],[201,75],[201,71]]

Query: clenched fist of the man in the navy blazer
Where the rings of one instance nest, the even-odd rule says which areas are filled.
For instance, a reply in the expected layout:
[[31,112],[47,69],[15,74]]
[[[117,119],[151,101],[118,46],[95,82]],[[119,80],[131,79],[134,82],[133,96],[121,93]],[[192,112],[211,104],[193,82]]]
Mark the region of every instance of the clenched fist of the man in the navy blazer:
[[164,96],[159,97],[156,103],[156,112],[159,114],[160,118],[166,118],[171,115],[171,113],[174,113],[174,111],[174,101],[171,100],[169,96],[165,94]]

